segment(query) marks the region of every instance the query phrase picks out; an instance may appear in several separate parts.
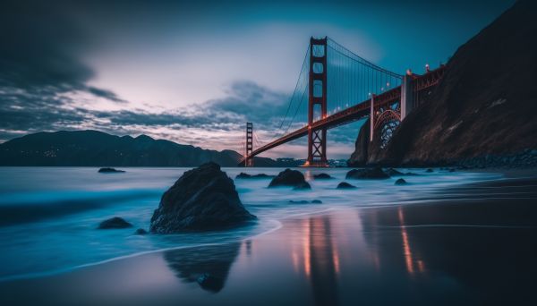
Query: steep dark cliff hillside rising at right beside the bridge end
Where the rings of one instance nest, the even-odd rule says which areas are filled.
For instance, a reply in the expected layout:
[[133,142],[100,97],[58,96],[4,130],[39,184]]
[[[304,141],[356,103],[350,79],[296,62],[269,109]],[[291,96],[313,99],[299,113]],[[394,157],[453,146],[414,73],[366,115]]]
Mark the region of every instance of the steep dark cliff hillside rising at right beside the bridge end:
[[458,48],[386,149],[364,124],[349,166],[537,166],[535,33],[537,2],[518,1]]

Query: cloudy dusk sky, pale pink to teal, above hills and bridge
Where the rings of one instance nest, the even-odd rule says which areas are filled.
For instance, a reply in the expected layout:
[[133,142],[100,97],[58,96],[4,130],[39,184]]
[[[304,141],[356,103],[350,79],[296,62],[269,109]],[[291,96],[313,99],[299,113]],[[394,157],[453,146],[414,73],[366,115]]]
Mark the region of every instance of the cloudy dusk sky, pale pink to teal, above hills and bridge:
[[[0,4],[0,142],[98,130],[205,149],[260,142],[285,115],[311,36],[403,74],[446,63],[514,0],[29,1]],[[347,158],[361,123],[328,132]],[[306,157],[305,140],[266,157]]]

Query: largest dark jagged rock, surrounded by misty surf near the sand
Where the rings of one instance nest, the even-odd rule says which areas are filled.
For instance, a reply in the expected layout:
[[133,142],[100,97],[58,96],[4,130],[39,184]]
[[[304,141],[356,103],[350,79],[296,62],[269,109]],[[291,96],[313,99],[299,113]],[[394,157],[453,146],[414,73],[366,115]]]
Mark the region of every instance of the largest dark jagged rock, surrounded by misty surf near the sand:
[[183,174],[164,192],[149,232],[180,233],[243,225],[255,219],[244,207],[233,180],[213,162]]

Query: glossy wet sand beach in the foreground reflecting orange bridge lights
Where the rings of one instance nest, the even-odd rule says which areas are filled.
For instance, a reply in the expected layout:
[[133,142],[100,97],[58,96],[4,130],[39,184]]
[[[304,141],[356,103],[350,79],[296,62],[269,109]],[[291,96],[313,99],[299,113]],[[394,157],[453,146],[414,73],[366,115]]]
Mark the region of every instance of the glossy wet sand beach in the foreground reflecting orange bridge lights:
[[289,218],[246,241],[2,282],[0,304],[537,304],[536,259],[537,179],[509,179]]

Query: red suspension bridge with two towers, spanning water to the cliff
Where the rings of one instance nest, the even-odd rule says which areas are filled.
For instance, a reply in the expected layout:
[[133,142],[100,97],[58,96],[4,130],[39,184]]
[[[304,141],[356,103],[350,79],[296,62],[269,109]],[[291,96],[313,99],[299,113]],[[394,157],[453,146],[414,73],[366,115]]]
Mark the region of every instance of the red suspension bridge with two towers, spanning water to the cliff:
[[253,123],[247,123],[240,165],[253,166],[253,157],[260,153],[307,136],[303,166],[328,166],[327,131],[366,117],[370,118],[370,141],[378,137],[384,148],[399,123],[438,85],[445,70],[444,65],[435,70],[426,66],[422,75],[411,71],[401,75],[372,64],[331,38],[311,38],[277,136],[261,144]]

